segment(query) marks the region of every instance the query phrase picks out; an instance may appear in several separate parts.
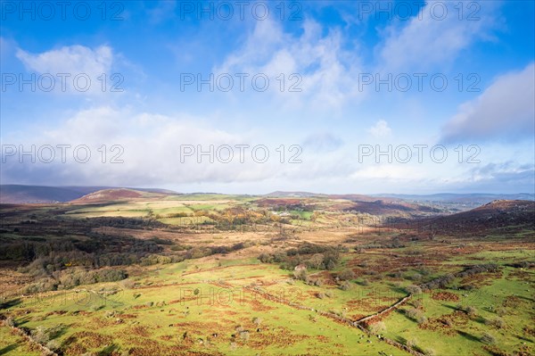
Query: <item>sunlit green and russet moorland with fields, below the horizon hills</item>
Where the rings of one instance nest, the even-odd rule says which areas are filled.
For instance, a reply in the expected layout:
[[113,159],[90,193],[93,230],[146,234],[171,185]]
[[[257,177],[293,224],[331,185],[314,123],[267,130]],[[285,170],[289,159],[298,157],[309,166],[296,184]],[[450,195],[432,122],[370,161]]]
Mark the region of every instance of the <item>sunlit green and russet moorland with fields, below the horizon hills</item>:
[[531,210],[440,234],[339,204],[4,205],[0,354],[535,352]]

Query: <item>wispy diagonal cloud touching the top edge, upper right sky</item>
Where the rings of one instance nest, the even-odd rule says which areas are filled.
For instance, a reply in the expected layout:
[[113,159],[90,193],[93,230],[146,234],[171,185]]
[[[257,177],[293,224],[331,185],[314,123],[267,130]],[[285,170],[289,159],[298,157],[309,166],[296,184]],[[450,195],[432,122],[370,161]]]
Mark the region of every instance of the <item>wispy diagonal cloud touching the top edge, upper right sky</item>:
[[498,24],[494,15],[498,2],[426,3],[405,27],[399,29],[399,23],[405,22],[394,21],[385,30],[386,40],[379,47],[382,70],[443,68],[475,41],[491,39],[489,31]]

